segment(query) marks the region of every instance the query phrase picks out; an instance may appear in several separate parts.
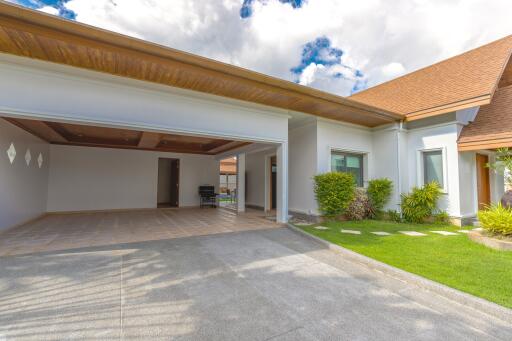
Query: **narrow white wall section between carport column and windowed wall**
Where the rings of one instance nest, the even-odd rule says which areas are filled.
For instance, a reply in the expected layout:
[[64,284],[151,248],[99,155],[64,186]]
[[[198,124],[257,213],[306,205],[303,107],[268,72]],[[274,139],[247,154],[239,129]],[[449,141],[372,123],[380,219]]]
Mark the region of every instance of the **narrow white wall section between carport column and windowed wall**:
[[289,209],[318,214],[313,191],[317,173],[317,122],[291,129],[289,138]]

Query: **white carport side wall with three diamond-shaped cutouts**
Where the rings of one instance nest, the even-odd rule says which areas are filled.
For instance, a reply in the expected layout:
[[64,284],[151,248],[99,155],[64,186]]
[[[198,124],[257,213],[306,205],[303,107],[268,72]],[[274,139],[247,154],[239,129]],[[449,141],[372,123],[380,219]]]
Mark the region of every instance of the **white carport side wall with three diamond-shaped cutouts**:
[[[11,164],[7,149],[14,144]],[[25,153],[32,160],[27,166]],[[37,158],[41,153],[43,164]],[[46,212],[48,144],[0,118],[0,230],[19,225]]]

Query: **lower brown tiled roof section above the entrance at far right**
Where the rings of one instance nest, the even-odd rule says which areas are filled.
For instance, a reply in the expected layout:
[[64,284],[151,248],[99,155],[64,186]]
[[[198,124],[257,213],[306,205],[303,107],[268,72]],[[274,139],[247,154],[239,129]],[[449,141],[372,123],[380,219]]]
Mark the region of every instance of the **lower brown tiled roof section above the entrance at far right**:
[[499,88],[491,104],[480,107],[476,119],[459,136],[460,151],[512,147],[512,85]]

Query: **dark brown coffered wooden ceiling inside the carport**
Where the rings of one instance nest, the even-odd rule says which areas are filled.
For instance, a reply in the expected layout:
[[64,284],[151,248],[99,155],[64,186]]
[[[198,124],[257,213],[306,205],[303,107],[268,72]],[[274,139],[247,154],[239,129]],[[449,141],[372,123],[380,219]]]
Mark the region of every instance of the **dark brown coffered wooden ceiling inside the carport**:
[[18,118],[4,120],[51,144],[216,155],[249,142]]

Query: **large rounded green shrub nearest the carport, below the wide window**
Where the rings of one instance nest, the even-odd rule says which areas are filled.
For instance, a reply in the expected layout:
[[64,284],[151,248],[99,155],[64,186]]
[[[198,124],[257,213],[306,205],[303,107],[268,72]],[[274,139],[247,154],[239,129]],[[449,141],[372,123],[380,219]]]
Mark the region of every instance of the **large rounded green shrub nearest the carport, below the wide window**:
[[330,172],[314,177],[315,197],[322,214],[343,214],[354,199],[356,182],[349,173]]

